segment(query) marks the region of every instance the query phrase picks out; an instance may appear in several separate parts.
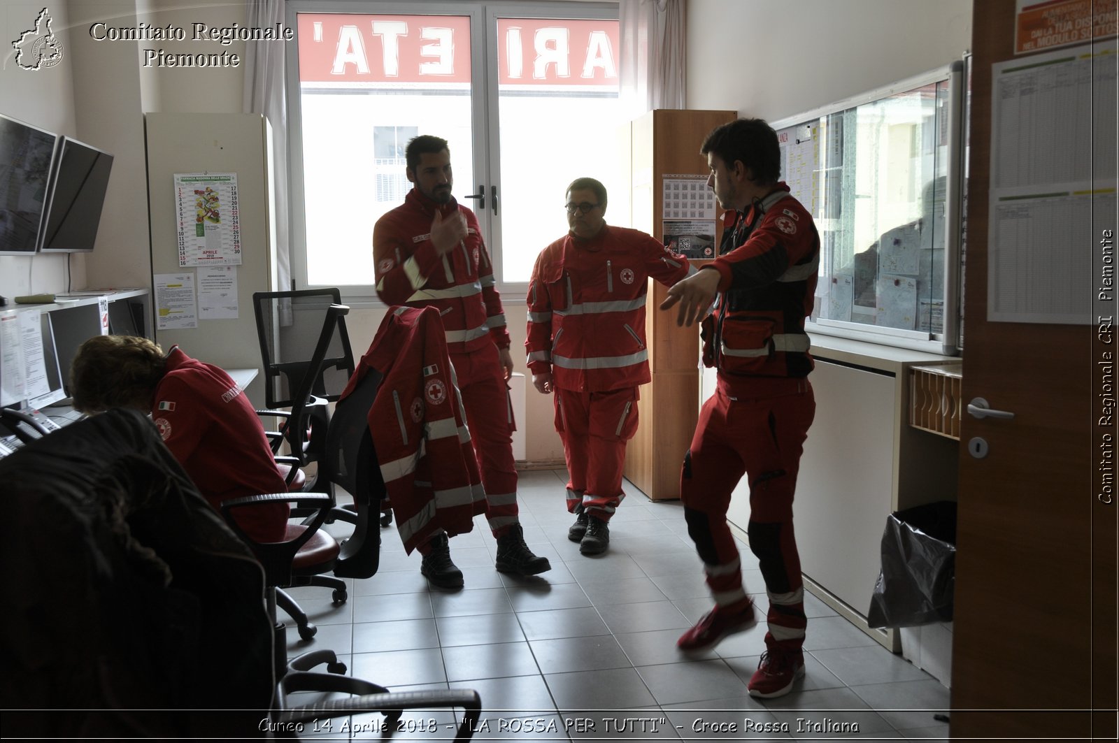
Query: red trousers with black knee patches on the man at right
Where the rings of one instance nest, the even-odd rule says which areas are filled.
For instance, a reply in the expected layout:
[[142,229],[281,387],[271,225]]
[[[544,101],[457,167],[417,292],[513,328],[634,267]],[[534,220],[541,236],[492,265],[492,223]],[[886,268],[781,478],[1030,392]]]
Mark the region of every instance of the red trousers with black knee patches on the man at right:
[[707,585],[717,605],[730,606],[746,594],[726,510],[732,490],[749,476],[747,536],[770,603],[765,641],[790,650],[803,645],[808,623],[792,497],[815,413],[808,379],[752,377],[728,384],[721,376],[699,413],[680,477],[688,535],[704,562]]

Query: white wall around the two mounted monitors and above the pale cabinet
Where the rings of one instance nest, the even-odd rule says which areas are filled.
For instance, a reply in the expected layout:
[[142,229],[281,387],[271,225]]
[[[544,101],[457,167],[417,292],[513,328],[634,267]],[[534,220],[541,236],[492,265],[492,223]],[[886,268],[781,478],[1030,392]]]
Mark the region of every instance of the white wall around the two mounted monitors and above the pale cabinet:
[[[15,39],[32,27],[44,3],[4,0],[0,38]],[[228,0],[68,0],[48,6],[51,30],[62,41],[55,67],[20,69],[10,46],[0,69],[0,112],[56,134],[75,137],[114,156],[113,172],[93,253],[0,256],[0,294],[55,292],[69,286],[148,286],[148,185],[143,114],[148,111],[239,113],[239,68],[142,67],[143,48],[168,53],[228,50],[244,58],[244,43],[95,40],[95,22],[114,28],[198,21],[225,27],[245,23],[245,9]],[[168,185],[170,188],[170,185]]]

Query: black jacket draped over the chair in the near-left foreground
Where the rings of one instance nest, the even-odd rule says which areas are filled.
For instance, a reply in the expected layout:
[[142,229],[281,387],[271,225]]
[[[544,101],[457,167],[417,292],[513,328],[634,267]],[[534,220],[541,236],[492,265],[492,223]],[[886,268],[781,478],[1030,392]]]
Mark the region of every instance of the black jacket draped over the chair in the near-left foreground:
[[0,707],[28,711],[6,735],[261,734],[263,571],[150,421],[111,411],[27,444],[0,460]]

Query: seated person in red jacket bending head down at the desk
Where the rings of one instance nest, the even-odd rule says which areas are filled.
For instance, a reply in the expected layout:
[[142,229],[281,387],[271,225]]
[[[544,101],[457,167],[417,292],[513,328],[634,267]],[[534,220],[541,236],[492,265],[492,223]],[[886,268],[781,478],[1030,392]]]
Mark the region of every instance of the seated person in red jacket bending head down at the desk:
[[[95,336],[70,366],[74,407],[151,413],[163,443],[214,508],[231,498],[286,492],[256,411],[228,374],[178,346],[166,355],[147,338]],[[258,542],[282,542],[286,504],[237,509]]]

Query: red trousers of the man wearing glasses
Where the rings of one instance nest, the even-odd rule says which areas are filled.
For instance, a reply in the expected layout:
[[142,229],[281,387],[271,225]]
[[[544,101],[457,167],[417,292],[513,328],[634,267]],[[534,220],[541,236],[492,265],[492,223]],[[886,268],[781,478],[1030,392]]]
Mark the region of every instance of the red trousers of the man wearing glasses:
[[626,442],[637,431],[637,387],[610,392],[556,389],[556,431],[567,460],[567,511],[576,506],[609,521],[622,502]]

